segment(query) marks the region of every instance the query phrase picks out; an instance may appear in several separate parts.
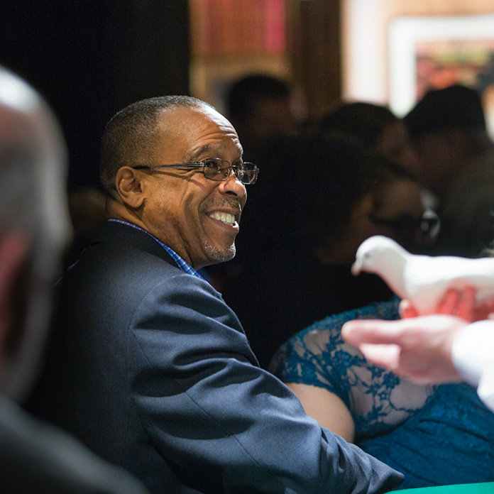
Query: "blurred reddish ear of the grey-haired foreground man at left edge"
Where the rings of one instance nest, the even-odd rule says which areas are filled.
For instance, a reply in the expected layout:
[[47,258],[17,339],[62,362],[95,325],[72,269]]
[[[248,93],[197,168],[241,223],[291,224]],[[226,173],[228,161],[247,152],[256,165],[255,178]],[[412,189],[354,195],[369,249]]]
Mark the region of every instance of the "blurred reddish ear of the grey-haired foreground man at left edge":
[[[0,361],[11,331],[16,329],[16,287],[29,254],[29,238],[22,231],[9,231],[0,238]],[[18,294],[17,294],[18,295]],[[23,297],[27,297],[27,293]]]

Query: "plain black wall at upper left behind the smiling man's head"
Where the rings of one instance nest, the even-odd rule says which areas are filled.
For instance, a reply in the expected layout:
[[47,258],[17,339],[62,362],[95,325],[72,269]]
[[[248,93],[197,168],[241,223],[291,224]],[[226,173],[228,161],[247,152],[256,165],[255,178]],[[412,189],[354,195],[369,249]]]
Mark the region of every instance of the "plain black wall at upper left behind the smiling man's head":
[[189,93],[187,0],[1,0],[0,64],[62,124],[69,187],[98,185],[99,138],[127,104]]

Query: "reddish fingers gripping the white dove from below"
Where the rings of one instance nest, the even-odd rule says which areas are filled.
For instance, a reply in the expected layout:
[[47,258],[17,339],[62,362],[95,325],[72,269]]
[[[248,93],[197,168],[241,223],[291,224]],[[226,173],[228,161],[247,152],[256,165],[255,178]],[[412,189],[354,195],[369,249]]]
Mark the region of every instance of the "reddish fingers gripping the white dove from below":
[[[468,322],[489,319],[494,314],[494,300],[476,306],[475,289],[466,287],[465,290],[448,290],[437,307],[436,314],[451,314]],[[419,314],[409,300],[400,302],[402,319],[417,317]]]

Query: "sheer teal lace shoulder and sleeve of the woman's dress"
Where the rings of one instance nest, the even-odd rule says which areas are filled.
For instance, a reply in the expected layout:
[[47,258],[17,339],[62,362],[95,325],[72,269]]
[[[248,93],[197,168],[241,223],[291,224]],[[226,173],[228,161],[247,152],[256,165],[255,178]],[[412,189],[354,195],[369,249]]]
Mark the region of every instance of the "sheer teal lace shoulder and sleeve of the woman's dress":
[[352,319],[397,319],[399,302],[377,302],[316,322],[280,347],[270,370],[285,383],[338,395],[353,416],[357,440],[388,432],[421,408],[435,388],[370,364],[341,338],[341,326]]

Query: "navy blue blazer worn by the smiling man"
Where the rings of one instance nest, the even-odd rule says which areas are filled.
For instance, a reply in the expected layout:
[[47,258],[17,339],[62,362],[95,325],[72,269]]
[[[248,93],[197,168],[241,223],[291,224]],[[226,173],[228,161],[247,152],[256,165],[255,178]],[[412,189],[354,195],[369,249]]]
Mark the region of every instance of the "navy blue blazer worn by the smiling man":
[[58,289],[28,410],[151,493],[377,493],[402,483],[309,418],[258,367],[221,295],[145,232],[109,222]]

